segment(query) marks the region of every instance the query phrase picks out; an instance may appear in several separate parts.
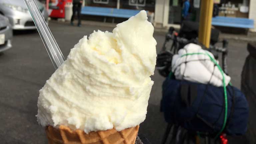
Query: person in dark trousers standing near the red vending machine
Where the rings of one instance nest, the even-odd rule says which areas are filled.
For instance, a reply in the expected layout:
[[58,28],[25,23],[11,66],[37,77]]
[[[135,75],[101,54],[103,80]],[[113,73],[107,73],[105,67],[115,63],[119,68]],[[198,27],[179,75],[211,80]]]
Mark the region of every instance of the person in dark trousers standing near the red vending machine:
[[77,26],[81,26],[81,8],[82,8],[82,0],[73,0],[73,15],[71,17],[71,25],[74,25],[73,21],[77,13],[78,24]]

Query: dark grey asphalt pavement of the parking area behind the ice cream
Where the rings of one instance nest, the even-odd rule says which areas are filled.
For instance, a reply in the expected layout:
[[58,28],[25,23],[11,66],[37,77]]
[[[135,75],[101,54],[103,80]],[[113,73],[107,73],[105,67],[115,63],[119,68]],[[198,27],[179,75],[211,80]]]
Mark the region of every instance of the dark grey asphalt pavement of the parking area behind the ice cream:
[[[50,21],[49,27],[64,57],[84,35],[93,30],[112,31],[112,27],[82,25]],[[155,33],[157,51],[164,42],[164,33]],[[228,70],[234,86],[240,88],[241,71],[248,55],[243,41],[229,41]],[[0,143],[1,144],[47,144],[44,128],[39,126],[37,98],[39,90],[54,72],[46,49],[37,31],[14,32],[13,47],[0,54]],[[154,85],[148,105],[146,120],[139,133],[152,144],[159,144],[165,127],[160,113],[161,85],[164,80],[157,71],[152,76]]]

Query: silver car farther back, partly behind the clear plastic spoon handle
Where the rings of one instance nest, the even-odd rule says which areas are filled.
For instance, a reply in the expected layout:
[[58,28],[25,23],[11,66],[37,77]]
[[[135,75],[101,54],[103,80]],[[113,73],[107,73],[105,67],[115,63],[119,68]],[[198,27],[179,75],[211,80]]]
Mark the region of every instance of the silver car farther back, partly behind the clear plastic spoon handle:
[[[47,21],[48,12],[45,6],[38,0],[35,1]],[[0,0],[0,14],[9,18],[12,29],[14,30],[36,29],[24,0]]]

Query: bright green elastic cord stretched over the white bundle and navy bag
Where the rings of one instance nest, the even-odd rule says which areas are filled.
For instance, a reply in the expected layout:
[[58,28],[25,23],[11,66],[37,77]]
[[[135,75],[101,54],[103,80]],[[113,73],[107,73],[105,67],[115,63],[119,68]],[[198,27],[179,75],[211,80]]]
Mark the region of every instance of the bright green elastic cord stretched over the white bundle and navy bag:
[[[218,133],[218,134],[215,136],[215,138],[214,138],[214,139],[216,139],[216,138],[218,138],[218,136],[222,133],[222,131],[224,130],[224,128],[225,128],[225,126],[226,126],[226,123],[227,123],[228,99],[227,99],[227,89],[226,89],[226,84],[225,84],[224,72],[223,72],[223,70],[221,69],[220,65],[217,63],[217,61],[216,61],[208,52],[205,52],[205,53],[187,53],[187,54],[182,55],[181,57],[187,56],[187,55],[196,55],[196,54],[208,55],[209,58],[211,59],[211,61],[218,67],[218,69],[220,70],[221,75],[222,75],[222,84],[223,84],[224,99],[225,99],[225,115],[224,115],[224,122],[223,122],[222,128],[221,128],[221,130],[219,131],[219,133]],[[231,85],[231,83],[229,83],[229,84]]]

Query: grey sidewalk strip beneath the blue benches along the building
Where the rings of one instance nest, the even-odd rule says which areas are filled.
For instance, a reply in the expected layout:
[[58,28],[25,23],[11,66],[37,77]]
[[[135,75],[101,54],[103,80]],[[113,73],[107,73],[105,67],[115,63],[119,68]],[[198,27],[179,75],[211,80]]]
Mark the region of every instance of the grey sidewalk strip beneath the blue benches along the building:
[[[67,23],[67,22],[66,22]],[[82,25],[90,25],[90,26],[102,26],[102,27],[116,27],[116,23],[104,23],[98,21],[85,21],[82,20]],[[156,33],[166,34],[168,32],[167,28],[155,28]],[[221,33],[220,39],[232,39],[232,40],[240,40],[244,42],[253,42],[256,41],[256,33],[248,32],[247,35],[245,34],[228,34],[228,33]]]

